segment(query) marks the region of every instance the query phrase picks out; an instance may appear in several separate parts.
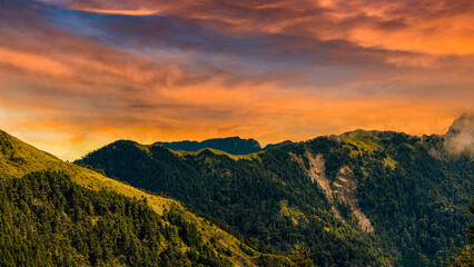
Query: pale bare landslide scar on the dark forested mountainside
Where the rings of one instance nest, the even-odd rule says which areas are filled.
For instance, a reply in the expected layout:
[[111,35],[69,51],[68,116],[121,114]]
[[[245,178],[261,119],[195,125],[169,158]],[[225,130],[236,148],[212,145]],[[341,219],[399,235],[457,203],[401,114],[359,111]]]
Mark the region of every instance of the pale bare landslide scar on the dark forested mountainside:
[[[337,174],[337,180],[333,184],[333,190],[330,186],[329,179],[326,177],[326,165],[324,160],[324,156],[318,154],[316,156],[307,152],[307,158],[309,161],[309,169],[306,168],[303,158],[290,152],[292,158],[302,166],[303,169],[306,170],[306,174],[312,179],[313,182],[317,182],[319,187],[323,189],[324,194],[327,197],[329,204],[334,204],[335,199],[340,199],[345,204],[348,204],[352,209],[354,216],[357,218],[359,227],[362,230],[367,233],[373,233],[374,227],[372,226],[371,220],[362,212],[358,207],[357,201],[357,178],[354,176],[353,171],[347,167],[343,166]],[[334,217],[340,219],[346,222],[344,218],[340,216],[339,210],[335,207],[330,207]]]

